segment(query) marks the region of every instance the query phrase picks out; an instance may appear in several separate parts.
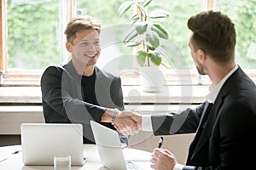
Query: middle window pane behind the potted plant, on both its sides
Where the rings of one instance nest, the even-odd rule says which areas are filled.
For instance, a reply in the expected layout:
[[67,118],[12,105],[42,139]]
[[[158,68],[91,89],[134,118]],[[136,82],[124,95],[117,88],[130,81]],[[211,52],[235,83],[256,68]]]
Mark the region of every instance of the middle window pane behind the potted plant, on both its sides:
[[[116,61],[115,65],[111,65],[115,69],[129,69],[134,65],[134,49],[126,47],[122,40],[124,39],[124,30],[127,28],[125,24],[129,24],[131,21],[131,13],[125,13],[122,17],[119,17],[118,9],[119,5],[124,3],[125,0],[115,0],[115,1],[101,1],[101,0],[86,0],[86,1],[76,1],[76,15],[89,14],[96,18],[102,24],[103,32],[108,32],[108,40],[113,38],[111,35],[117,38],[113,38],[113,42],[106,40],[103,36],[101,41],[108,41],[111,45],[106,45],[103,42],[103,52],[101,58],[99,59],[97,65],[102,67]],[[153,11],[157,8],[165,9],[170,14],[170,18],[163,19],[162,24],[167,27],[170,40],[164,44],[164,49],[166,53],[170,54],[168,56],[171,58],[172,65],[176,68],[188,68],[193,66],[192,59],[189,54],[188,48],[188,38],[189,30],[186,26],[186,22],[189,16],[196,14],[202,9],[202,1],[189,1],[185,0],[179,1],[152,1],[148,12]],[[130,11],[131,12],[131,11]],[[123,25],[123,26],[121,26]],[[112,32],[113,34],[111,34]],[[104,46],[105,45],[105,46]],[[105,52],[105,53],[104,53]],[[132,57],[133,56],[133,57]],[[131,66],[132,65],[132,66]]]

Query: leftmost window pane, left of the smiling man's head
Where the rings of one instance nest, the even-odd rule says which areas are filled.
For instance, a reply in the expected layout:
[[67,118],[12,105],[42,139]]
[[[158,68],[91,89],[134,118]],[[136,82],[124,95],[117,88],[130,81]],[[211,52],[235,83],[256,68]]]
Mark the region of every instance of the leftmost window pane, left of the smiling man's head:
[[[7,0],[8,69],[42,70],[63,60],[62,0]],[[65,23],[65,22],[64,22]]]

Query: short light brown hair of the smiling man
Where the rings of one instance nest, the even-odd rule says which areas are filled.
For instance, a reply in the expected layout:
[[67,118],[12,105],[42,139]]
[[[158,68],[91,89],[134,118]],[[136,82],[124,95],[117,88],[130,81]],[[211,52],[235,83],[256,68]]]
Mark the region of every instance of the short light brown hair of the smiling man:
[[82,17],[73,18],[67,24],[67,28],[64,31],[67,37],[67,42],[73,44],[73,39],[76,37],[76,33],[80,30],[96,30],[99,34],[101,33],[101,25],[97,23],[93,17],[85,15]]

